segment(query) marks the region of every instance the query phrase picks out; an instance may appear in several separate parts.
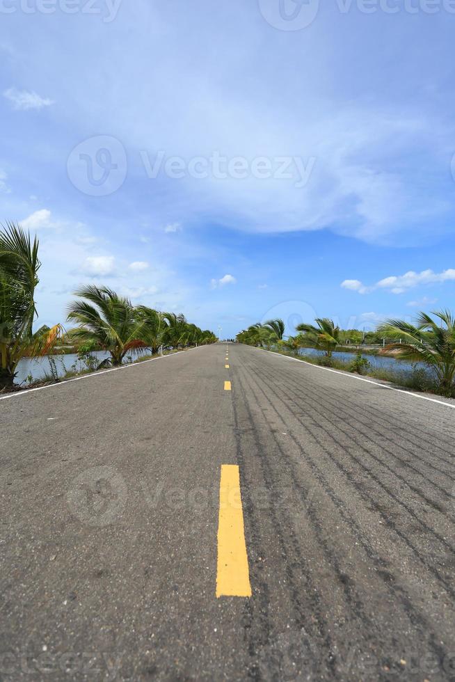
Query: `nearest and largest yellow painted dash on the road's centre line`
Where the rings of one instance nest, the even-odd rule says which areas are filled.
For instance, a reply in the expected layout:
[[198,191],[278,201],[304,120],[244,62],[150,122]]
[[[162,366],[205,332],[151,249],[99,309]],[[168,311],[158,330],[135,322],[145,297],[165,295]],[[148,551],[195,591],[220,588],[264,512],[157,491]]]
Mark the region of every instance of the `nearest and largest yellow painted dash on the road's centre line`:
[[251,596],[239,467],[221,466],[216,596]]

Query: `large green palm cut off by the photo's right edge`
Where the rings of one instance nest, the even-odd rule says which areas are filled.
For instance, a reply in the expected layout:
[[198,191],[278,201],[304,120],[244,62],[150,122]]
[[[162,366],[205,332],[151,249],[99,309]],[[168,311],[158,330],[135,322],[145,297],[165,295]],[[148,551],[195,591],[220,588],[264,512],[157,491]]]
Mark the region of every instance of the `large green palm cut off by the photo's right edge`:
[[[441,392],[449,397],[454,392],[455,317],[449,310],[431,315],[437,319],[420,312],[415,326],[401,319],[389,319],[378,327],[378,331],[398,340],[386,348],[397,351],[399,358],[417,360],[431,367],[438,377]],[[399,342],[401,339],[404,343]]]

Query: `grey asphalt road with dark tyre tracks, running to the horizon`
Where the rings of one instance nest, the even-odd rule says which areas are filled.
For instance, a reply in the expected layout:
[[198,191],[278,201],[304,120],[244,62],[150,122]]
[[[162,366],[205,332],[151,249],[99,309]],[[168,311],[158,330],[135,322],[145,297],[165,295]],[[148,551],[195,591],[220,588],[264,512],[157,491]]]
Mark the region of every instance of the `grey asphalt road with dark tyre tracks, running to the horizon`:
[[225,348],[0,400],[0,679],[455,679],[453,407]]

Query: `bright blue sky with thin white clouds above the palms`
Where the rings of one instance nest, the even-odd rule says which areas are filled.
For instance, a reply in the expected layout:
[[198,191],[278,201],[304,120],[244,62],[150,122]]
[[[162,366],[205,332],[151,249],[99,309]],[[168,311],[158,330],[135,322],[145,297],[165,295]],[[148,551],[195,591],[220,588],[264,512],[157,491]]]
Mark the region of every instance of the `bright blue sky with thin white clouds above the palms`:
[[88,281],[223,336],[454,308],[455,3],[0,14],[0,220],[40,237],[39,324]]

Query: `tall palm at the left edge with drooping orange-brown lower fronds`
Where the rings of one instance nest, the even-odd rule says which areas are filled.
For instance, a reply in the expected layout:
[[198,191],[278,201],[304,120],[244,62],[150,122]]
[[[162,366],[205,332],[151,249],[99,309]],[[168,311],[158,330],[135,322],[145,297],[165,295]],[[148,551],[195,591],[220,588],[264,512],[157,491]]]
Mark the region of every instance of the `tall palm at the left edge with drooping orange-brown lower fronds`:
[[13,386],[17,363],[25,354],[45,354],[62,328],[41,328],[33,335],[38,285],[38,239],[16,223],[0,231],[0,389]]

